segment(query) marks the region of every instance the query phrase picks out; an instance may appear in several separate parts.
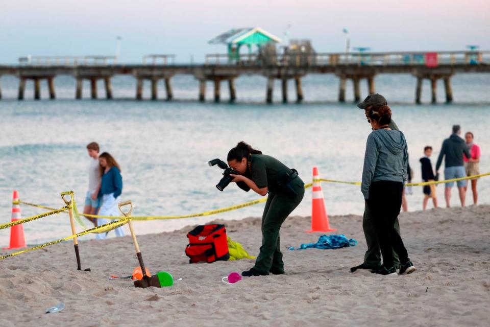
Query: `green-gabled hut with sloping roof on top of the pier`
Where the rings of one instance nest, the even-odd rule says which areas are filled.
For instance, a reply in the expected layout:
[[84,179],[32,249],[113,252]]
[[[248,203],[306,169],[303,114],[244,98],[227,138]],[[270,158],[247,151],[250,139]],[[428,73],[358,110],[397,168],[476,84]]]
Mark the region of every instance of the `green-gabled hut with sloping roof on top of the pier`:
[[230,61],[239,60],[240,47],[242,45],[248,47],[250,55],[252,54],[252,46],[254,45],[260,51],[265,45],[275,45],[276,43],[281,43],[281,39],[259,27],[232,29],[209,41],[209,44],[228,45],[228,58]]

